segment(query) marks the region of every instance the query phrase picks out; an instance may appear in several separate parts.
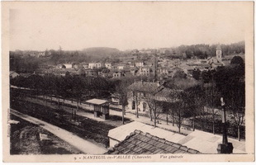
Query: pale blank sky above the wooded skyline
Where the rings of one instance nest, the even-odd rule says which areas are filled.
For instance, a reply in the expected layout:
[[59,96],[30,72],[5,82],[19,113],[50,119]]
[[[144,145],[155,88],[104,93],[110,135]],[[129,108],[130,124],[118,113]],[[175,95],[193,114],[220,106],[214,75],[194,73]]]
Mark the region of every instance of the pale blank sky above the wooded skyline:
[[37,2],[10,10],[11,50],[119,50],[244,40],[241,2]]

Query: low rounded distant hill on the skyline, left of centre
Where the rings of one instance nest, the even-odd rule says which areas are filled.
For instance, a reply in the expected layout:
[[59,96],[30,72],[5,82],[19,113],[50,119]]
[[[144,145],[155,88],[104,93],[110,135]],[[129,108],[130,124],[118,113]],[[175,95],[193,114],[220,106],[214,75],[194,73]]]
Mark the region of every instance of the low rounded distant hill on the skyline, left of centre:
[[117,50],[116,48],[107,48],[107,47],[92,47],[83,49],[86,54],[93,55],[93,56],[111,56],[111,55],[117,55],[120,54],[120,50]]

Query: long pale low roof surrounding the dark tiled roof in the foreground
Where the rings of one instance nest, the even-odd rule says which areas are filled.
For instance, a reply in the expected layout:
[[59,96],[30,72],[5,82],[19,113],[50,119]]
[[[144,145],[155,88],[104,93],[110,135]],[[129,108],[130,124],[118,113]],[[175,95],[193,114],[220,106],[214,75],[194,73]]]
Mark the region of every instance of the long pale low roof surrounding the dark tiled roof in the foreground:
[[[124,140],[126,141],[127,139],[130,139],[130,135],[136,132],[139,133],[138,131],[143,132],[143,134],[150,134],[151,136],[155,136],[156,139],[164,139],[170,143],[177,144],[177,146],[179,145],[177,148],[187,148],[187,150],[185,149],[186,151],[179,150],[181,153],[187,152],[188,149],[192,149],[193,151],[191,150],[191,152],[194,153],[197,153],[196,151],[198,151],[198,153],[217,153],[218,144],[222,142],[222,136],[219,134],[211,134],[200,130],[195,130],[190,134],[183,135],[157,127],[154,128],[154,126],[134,121],[129,124],[121,125],[120,127],[109,130],[108,138],[110,148],[113,148],[112,152],[115,152],[115,148],[118,150],[120,144],[125,143],[123,142]],[[246,153],[244,141],[229,138],[229,142],[233,144],[233,153]]]

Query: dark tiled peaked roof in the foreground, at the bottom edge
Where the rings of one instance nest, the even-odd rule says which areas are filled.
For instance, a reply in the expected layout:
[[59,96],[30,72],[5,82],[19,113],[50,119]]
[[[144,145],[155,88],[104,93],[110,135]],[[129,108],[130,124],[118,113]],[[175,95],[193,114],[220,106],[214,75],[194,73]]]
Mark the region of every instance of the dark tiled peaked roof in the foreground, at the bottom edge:
[[149,133],[135,130],[111,148],[107,154],[154,154],[154,153],[200,153],[181,144],[159,139]]

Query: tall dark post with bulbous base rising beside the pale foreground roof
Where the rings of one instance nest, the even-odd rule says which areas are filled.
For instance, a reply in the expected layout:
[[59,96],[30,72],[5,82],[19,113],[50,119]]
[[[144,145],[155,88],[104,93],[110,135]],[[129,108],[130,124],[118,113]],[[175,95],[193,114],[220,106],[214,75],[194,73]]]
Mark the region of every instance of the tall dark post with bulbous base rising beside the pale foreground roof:
[[223,97],[220,98],[221,101],[221,111],[222,111],[222,144],[218,144],[218,153],[233,153],[233,144],[228,142],[227,136],[227,125],[225,118],[225,101]]

